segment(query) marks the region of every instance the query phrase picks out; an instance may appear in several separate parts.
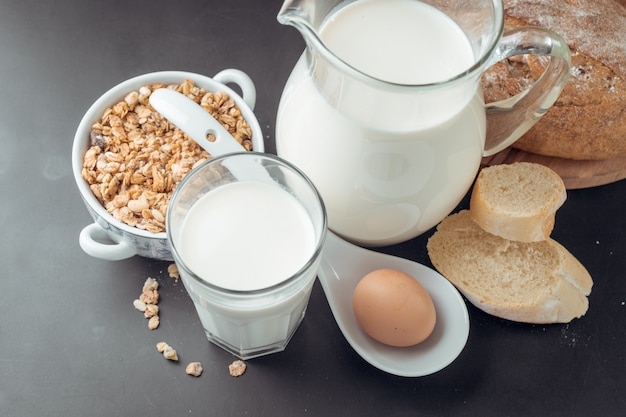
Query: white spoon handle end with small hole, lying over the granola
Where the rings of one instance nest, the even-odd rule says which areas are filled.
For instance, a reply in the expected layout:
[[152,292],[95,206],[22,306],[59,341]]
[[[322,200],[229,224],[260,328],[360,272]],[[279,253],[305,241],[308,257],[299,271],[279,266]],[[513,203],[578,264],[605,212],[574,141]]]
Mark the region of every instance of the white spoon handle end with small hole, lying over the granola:
[[[159,88],[150,95],[150,104],[211,155],[245,152],[245,149],[198,103],[177,91]],[[214,141],[207,134],[215,135]]]

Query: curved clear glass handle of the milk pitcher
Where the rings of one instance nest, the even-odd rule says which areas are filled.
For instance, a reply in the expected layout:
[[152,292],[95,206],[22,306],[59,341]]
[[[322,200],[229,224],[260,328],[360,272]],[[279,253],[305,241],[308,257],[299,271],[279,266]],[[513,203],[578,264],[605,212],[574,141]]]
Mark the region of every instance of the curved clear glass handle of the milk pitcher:
[[490,65],[515,55],[547,55],[550,63],[529,89],[485,106],[487,135],[483,156],[493,155],[526,133],[552,107],[569,75],[570,52],[556,33],[535,27],[506,32]]

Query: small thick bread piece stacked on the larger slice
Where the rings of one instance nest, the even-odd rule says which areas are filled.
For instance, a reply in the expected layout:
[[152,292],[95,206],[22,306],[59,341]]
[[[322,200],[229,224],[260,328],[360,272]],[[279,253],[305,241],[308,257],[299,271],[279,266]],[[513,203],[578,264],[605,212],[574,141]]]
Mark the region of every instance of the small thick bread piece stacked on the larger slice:
[[485,231],[520,242],[546,240],[567,198],[550,168],[531,162],[483,168],[470,198],[472,218]]

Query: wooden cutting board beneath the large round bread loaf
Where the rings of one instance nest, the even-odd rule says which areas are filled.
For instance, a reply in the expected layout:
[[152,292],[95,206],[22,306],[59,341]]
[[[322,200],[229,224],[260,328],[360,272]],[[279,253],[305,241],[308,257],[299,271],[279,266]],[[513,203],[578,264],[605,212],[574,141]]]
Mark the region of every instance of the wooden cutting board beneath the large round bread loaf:
[[558,173],[567,189],[590,188],[626,178],[626,155],[599,161],[577,161],[536,155],[519,149],[507,148],[493,156],[483,158],[483,166],[536,162]]

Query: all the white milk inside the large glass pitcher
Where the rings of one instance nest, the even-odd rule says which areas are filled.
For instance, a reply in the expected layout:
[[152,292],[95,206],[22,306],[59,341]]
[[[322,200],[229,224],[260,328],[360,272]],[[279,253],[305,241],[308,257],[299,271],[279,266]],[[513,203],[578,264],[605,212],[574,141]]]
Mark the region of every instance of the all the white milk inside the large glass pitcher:
[[[461,29],[412,0],[356,1],[331,15],[320,36],[351,66],[393,83],[446,81],[474,63]],[[329,227],[384,245],[437,224],[480,164],[486,127],[477,84],[407,94],[335,75],[323,60],[314,76],[306,65],[303,54],[287,81],[276,146],[318,188]]]

